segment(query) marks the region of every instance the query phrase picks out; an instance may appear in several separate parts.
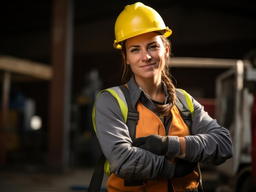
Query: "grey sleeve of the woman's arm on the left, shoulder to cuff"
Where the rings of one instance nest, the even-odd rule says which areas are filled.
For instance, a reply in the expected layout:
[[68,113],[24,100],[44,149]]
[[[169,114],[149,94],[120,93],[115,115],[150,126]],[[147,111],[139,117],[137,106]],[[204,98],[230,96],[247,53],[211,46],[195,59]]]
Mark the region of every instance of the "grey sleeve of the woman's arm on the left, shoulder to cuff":
[[173,176],[175,164],[167,163],[166,157],[132,146],[115,97],[105,91],[94,107],[97,136],[112,173],[126,181]]

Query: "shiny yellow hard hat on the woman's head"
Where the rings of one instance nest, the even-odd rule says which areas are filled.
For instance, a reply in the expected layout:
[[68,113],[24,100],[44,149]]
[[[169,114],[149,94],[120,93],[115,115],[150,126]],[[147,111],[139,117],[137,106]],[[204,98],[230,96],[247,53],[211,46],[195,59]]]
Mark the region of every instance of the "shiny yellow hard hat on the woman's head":
[[159,13],[151,7],[141,2],[126,5],[115,23],[114,47],[121,49],[122,41],[151,31],[159,31],[166,38],[172,33],[171,29],[165,26]]

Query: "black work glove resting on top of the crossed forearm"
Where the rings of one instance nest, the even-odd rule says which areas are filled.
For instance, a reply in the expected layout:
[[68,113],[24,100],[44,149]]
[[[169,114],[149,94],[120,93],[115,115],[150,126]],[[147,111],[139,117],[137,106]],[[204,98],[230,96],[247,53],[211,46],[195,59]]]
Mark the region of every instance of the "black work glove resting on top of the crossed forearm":
[[132,141],[132,146],[145,149],[157,155],[164,155],[168,151],[169,140],[160,135],[149,135],[147,137],[138,137]]

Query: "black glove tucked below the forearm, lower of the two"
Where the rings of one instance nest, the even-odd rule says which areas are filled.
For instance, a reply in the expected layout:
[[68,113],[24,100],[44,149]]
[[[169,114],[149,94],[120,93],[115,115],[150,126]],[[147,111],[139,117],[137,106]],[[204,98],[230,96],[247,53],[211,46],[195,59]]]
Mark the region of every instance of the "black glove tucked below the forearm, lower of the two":
[[196,166],[198,166],[198,163],[176,158],[173,177],[184,177],[190,174]]

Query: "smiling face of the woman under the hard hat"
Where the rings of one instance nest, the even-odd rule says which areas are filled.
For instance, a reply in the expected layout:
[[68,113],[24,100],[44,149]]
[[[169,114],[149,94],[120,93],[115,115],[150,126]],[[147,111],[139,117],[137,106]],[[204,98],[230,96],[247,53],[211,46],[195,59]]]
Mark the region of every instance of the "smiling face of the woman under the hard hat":
[[144,33],[126,40],[126,63],[130,65],[135,79],[161,79],[168,47],[164,46],[160,34]]

